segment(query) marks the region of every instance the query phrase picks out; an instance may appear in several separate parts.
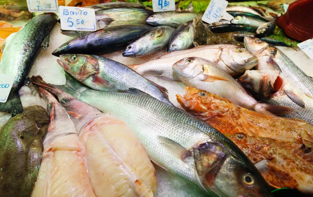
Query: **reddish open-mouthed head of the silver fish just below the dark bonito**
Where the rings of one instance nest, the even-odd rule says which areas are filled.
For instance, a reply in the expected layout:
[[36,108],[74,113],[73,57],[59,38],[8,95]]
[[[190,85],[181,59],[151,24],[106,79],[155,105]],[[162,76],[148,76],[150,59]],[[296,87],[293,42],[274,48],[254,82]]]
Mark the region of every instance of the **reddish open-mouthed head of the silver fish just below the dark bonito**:
[[60,66],[78,81],[99,73],[99,63],[93,55],[65,54],[60,59]]

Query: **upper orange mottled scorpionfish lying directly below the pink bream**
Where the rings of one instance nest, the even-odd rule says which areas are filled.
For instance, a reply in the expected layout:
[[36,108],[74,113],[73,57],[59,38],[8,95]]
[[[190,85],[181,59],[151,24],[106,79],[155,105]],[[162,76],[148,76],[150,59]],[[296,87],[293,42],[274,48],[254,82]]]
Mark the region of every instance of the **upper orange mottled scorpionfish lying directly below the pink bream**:
[[300,120],[274,117],[235,106],[231,101],[205,90],[185,87],[186,94],[176,95],[178,103],[221,133],[245,133],[311,148],[313,125]]

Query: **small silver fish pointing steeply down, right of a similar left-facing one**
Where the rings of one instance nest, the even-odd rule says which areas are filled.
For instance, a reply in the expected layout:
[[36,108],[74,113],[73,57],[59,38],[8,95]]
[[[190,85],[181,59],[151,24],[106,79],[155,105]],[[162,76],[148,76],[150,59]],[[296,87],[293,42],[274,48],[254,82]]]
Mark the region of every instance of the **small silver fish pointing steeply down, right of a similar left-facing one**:
[[172,34],[167,47],[167,52],[181,51],[192,47],[194,37],[193,21],[185,22]]

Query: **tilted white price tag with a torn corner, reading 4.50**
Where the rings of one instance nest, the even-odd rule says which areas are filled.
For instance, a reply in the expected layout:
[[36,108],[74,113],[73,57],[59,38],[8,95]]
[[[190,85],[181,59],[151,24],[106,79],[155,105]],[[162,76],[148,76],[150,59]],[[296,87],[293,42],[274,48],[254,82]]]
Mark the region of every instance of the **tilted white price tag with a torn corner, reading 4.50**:
[[225,11],[227,5],[225,0],[211,0],[201,19],[209,24],[221,19],[232,20],[234,17]]

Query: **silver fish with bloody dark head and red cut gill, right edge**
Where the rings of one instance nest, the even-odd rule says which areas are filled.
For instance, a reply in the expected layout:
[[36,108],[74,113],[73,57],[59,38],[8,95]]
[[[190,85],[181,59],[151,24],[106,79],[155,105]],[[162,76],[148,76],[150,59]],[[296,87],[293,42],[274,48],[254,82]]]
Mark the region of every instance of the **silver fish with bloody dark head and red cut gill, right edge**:
[[292,116],[313,124],[313,98],[277,71],[246,71],[239,81],[248,91],[258,95],[271,93],[262,102],[292,107],[296,109]]

